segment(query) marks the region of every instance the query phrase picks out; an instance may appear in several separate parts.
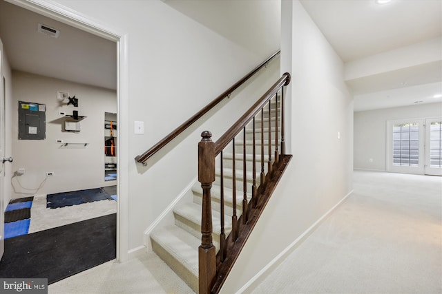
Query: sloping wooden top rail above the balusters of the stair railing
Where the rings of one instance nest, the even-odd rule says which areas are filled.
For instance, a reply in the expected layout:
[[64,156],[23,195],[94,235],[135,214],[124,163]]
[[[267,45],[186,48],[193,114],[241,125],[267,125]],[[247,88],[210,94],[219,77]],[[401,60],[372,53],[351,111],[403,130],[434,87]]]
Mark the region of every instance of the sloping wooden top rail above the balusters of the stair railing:
[[220,154],[220,151],[224,149],[241,130],[244,128],[247,123],[251,121],[251,119],[258,114],[260,109],[269,102],[269,99],[276,94],[280,90],[280,88],[284,85],[289,85],[290,83],[290,74],[286,72],[282,74],[281,78],[274,83],[271,88],[258,100],[249,110],[240,117],[234,123],[230,129],[227,130],[215,143],[215,155]]

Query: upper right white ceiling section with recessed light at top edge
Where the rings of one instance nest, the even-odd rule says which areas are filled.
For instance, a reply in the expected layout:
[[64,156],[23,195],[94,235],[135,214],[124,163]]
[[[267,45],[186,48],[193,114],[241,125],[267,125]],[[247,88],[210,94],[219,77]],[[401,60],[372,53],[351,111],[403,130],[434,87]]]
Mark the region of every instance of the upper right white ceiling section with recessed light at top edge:
[[442,34],[441,0],[300,0],[344,62]]

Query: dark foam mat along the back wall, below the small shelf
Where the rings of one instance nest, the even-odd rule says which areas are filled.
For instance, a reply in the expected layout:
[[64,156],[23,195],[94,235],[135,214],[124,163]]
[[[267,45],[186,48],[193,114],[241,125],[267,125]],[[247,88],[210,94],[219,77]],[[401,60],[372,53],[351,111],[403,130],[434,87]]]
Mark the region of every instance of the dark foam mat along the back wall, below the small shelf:
[[113,200],[111,196],[101,188],[55,193],[46,196],[46,207],[54,209],[106,199]]

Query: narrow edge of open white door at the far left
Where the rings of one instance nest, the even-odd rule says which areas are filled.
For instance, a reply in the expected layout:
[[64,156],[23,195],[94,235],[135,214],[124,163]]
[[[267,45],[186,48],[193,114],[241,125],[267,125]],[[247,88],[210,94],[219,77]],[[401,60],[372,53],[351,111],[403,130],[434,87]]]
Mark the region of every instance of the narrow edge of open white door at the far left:
[[5,209],[4,207],[4,178],[5,169],[4,161],[5,158],[5,79],[3,78],[3,43],[0,40],[0,259],[5,251]]

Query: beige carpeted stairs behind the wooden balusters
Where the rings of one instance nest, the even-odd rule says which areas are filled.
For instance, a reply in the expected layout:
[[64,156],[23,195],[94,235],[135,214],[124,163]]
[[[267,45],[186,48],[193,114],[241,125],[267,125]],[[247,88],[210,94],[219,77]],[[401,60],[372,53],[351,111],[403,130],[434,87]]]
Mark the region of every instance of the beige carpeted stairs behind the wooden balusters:
[[[279,101],[278,101],[279,104]],[[272,134],[272,155],[275,150],[274,136],[275,136],[275,102],[271,103],[271,134]],[[278,105],[278,112],[280,106]],[[280,116],[280,114],[278,114]],[[261,172],[261,115],[256,116],[256,185],[259,185]],[[269,110],[268,106],[264,111],[264,154],[265,154],[265,173],[267,173],[267,161],[269,160],[268,151],[268,129],[269,129]],[[246,128],[246,170],[247,170],[247,199],[251,200],[251,185],[253,173],[253,126],[251,123]],[[240,218],[242,212],[243,199],[243,134],[242,132],[235,140],[235,158],[236,158],[236,209],[237,216]],[[232,150],[232,147],[229,149]],[[232,176],[233,176],[233,153],[223,154],[224,164],[224,230],[226,236],[231,231],[231,216],[233,213],[233,192],[232,192]],[[217,252],[220,241],[220,167],[217,162],[216,179],[213,182],[211,189],[212,197],[212,218],[213,218],[213,244]],[[151,235],[151,244],[153,251],[168,264],[177,275],[179,275],[184,282],[189,284],[195,293],[198,293],[198,246],[201,244],[201,213],[202,213],[202,189],[200,182],[196,182],[191,188],[193,193],[193,202],[178,204],[173,209],[174,225],[155,229]]]

